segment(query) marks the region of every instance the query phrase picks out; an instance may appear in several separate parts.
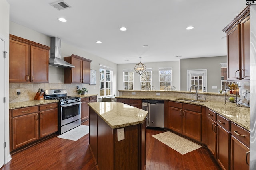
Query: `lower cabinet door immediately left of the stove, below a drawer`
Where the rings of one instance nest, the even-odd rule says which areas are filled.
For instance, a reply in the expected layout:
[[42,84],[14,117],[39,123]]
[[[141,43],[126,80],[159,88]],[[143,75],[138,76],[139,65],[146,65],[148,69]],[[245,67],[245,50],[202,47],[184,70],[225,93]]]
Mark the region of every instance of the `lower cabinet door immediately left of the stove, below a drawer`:
[[41,111],[40,117],[40,137],[45,137],[58,131],[58,109]]

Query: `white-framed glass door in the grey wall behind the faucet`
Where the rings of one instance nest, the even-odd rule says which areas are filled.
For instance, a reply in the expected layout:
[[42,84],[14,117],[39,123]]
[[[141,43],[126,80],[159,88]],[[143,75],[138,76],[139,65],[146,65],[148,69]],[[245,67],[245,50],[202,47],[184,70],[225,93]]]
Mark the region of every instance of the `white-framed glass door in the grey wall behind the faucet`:
[[[188,91],[192,85],[196,85],[198,92],[207,92],[207,70],[187,70],[187,88]],[[191,92],[195,92],[196,88],[192,87]]]

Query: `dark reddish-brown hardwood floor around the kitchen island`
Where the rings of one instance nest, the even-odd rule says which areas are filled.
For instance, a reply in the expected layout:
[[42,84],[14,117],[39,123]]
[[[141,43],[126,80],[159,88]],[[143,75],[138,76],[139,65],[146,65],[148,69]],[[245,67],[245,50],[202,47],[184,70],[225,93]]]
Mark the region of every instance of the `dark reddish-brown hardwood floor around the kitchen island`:
[[[152,137],[162,132],[147,129],[146,170],[220,170],[204,147],[182,155]],[[52,137],[12,155],[1,170],[96,170],[88,145],[88,134],[77,141]]]

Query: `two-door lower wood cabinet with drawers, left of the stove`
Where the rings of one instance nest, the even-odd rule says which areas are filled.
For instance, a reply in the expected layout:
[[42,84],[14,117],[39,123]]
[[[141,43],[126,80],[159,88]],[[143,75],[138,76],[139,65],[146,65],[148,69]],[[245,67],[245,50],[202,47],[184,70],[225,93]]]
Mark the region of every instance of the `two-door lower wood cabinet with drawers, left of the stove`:
[[10,152],[58,131],[58,104],[10,110]]

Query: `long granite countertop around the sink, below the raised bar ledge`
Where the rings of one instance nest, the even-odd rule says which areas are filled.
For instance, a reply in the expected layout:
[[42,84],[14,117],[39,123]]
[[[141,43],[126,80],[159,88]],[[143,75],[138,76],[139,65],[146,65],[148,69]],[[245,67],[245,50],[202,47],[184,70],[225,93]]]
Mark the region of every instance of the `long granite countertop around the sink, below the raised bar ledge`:
[[200,106],[206,106],[212,111],[215,111],[219,115],[226,117],[230,121],[240,125],[244,129],[250,131],[250,108],[237,107],[235,103],[226,101],[210,101],[207,102],[189,102],[177,100],[177,97],[166,96],[116,96],[116,98],[132,98],[132,99],[157,99],[157,100],[170,100],[174,102],[182,102],[188,104],[195,104]]

